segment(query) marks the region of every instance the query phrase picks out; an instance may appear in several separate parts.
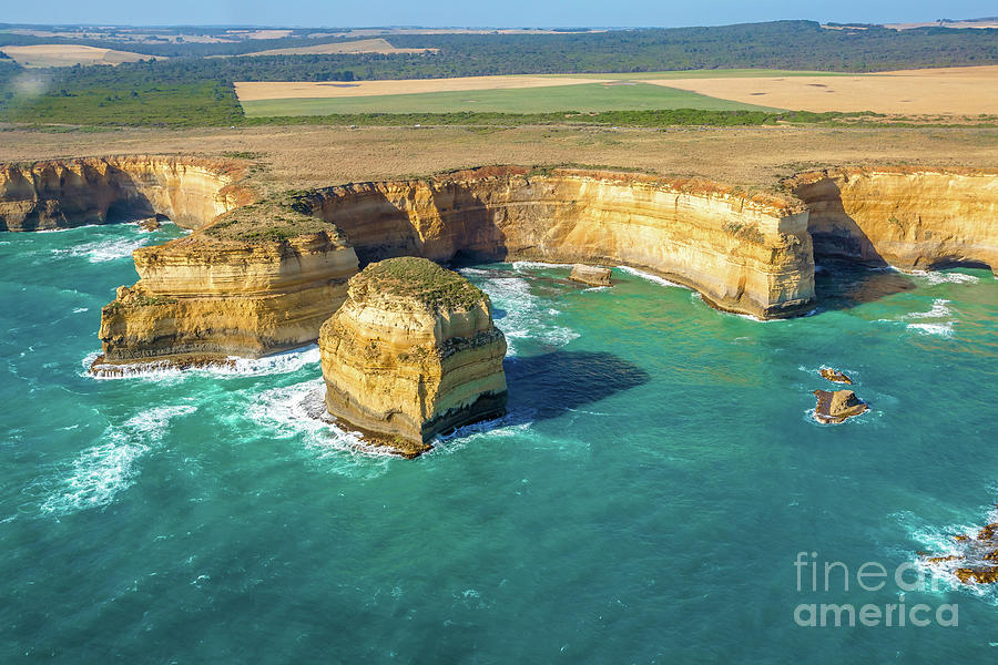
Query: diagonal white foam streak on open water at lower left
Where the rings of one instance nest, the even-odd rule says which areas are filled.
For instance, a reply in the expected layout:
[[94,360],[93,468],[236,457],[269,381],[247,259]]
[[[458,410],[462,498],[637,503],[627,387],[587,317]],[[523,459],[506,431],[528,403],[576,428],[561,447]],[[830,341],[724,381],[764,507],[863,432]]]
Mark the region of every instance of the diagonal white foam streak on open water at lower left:
[[69,513],[108,505],[134,484],[138,460],[162,441],[170,421],[196,410],[187,405],[156,407],[108,428],[100,443],[77,457],[69,475],[54,482],[42,511]]

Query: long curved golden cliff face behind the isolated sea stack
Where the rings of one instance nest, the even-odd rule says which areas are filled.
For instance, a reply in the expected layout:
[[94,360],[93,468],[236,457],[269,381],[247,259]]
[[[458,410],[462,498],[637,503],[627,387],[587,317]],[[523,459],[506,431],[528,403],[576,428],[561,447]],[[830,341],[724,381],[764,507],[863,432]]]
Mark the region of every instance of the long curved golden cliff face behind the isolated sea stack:
[[361,263],[416,255],[624,264],[762,318],[814,299],[807,213],[711,183],[604,172],[483,168],[324,190],[317,215]]

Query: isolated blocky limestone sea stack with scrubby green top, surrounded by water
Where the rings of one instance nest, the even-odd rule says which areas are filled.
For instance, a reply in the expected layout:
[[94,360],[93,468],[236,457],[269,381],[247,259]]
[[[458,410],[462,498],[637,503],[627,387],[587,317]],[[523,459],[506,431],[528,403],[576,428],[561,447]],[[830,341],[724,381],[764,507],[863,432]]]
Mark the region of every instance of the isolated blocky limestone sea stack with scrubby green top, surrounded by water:
[[367,266],[319,334],[326,406],[407,457],[501,415],[506,338],[487,295],[421,258]]

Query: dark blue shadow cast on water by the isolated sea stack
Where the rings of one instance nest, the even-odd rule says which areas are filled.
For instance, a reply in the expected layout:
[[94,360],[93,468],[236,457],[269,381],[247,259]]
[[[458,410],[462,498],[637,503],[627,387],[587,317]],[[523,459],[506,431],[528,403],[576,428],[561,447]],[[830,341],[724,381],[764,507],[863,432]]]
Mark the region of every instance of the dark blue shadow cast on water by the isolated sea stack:
[[[552,351],[515,356],[503,362],[509,385],[510,418],[547,420],[566,409],[648,383],[651,376],[605,351]],[[506,422],[509,423],[509,420]]]

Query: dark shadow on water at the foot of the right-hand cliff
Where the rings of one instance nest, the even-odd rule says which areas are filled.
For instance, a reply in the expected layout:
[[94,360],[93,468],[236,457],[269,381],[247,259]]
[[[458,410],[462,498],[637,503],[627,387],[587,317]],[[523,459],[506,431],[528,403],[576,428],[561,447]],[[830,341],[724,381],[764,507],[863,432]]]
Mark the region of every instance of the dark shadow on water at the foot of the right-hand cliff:
[[814,293],[824,309],[848,309],[915,288],[915,280],[890,268],[849,260],[823,260],[815,269]]

